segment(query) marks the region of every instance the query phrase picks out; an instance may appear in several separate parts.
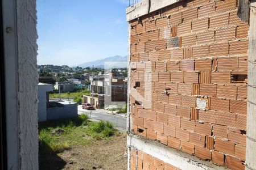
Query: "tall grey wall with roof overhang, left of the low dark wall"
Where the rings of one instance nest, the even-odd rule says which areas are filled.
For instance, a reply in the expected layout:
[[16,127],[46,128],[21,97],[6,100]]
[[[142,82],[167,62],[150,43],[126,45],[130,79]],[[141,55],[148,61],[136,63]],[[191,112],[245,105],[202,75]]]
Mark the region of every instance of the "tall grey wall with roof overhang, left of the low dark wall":
[[38,85],[38,121],[47,120],[47,92],[52,91],[52,84]]

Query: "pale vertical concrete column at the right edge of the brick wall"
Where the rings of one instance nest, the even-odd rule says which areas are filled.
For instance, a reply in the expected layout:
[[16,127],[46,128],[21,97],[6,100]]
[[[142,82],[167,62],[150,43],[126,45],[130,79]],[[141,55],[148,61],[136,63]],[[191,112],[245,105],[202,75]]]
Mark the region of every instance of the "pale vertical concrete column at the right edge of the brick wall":
[[251,1],[248,52],[246,169],[256,169],[256,1]]

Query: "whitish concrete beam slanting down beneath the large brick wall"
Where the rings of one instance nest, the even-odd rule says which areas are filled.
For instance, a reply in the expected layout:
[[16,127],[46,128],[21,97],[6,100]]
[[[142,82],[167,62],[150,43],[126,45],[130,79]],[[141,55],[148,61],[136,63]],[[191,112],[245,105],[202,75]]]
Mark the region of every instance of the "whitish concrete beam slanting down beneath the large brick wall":
[[180,169],[226,169],[137,135],[127,135],[127,146],[136,148]]

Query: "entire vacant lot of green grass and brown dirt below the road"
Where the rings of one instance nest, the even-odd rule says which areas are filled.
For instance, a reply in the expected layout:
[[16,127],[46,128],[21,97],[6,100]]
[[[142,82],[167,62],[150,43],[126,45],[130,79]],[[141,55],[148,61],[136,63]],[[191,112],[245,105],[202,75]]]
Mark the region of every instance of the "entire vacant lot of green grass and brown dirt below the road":
[[126,135],[108,122],[39,124],[39,169],[127,169]]

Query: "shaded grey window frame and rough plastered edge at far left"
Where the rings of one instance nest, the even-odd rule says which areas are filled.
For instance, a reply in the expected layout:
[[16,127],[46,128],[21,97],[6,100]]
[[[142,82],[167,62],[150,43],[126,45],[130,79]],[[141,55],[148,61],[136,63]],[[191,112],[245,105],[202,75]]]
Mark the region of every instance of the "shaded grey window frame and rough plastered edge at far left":
[[38,169],[36,1],[3,0],[7,169]]

